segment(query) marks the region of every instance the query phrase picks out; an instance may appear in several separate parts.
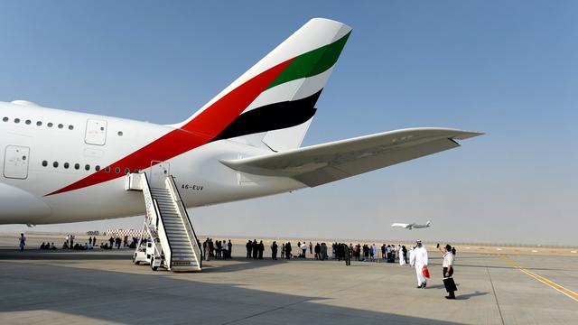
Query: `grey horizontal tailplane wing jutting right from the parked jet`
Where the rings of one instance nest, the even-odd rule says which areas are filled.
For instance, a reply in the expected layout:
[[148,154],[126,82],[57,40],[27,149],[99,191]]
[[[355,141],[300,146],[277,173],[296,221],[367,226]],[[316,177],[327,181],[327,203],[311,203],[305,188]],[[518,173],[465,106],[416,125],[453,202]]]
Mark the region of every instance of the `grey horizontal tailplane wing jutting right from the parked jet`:
[[290,177],[314,187],[460,146],[455,140],[482,135],[449,128],[410,128],[347,140],[223,160],[239,172]]

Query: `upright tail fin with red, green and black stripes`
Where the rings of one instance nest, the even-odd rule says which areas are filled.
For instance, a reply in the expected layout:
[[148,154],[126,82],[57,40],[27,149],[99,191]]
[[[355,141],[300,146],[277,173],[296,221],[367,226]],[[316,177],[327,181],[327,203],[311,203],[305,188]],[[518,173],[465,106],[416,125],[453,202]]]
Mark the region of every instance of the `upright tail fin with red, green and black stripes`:
[[314,18],[178,125],[210,141],[298,148],[351,28]]

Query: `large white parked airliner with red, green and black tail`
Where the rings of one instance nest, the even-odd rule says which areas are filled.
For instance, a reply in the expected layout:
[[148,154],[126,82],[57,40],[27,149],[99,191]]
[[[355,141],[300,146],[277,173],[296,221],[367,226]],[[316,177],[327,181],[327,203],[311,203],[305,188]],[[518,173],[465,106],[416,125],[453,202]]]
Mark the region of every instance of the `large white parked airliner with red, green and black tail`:
[[0,223],[142,215],[143,195],[125,189],[131,172],[153,184],[172,174],[192,208],[315,187],[480,135],[410,128],[301,147],[350,31],[312,19],[175,125],[1,102]]

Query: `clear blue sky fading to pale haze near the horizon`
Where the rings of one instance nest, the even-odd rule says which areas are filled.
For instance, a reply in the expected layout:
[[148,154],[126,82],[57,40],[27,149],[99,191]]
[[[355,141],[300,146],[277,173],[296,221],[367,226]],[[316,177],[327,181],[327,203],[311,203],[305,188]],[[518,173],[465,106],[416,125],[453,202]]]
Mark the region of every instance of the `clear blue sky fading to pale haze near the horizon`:
[[[321,16],[353,33],[304,144],[410,126],[487,133],[320,188],[193,210],[202,234],[576,244],[577,2],[17,1],[0,11],[0,100],[179,122]],[[389,228],[426,219],[433,228]]]

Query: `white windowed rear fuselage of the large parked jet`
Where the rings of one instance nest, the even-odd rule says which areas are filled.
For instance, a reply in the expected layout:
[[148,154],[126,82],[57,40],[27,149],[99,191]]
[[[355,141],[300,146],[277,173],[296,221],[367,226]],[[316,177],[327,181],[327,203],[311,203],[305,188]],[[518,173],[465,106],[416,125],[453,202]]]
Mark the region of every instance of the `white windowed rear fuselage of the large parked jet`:
[[[125,190],[127,171],[122,167],[109,171],[116,174],[113,179],[54,192],[97,172],[107,176],[103,171],[107,166],[174,130],[169,125],[0,102],[0,223],[46,224],[144,214],[142,194]],[[188,208],[304,187],[293,179],[244,174],[219,163],[263,153],[271,152],[234,139],[219,140],[170,159],[149,152],[146,166],[139,170],[150,178],[155,168],[168,169]]]

